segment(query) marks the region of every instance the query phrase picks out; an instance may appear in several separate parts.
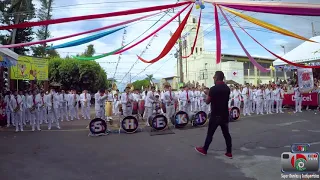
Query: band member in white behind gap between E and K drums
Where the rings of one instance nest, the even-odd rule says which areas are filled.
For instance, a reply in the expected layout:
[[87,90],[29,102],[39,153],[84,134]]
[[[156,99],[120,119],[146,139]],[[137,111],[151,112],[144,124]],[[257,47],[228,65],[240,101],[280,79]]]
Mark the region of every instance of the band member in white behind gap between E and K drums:
[[166,116],[168,119],[171,119],[171,117],[173,117],[175,114],[174,103],[175,103],[176,97],[172,92],[170,85],[166,85],[164,88],[166,92],[163,94],[163,102],[166,106]]

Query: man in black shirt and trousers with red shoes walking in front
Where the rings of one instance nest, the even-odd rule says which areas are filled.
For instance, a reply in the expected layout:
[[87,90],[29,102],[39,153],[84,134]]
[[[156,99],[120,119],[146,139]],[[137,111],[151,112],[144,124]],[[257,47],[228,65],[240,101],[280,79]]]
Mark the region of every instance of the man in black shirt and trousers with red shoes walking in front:
[[216,71],[214,75],[215,86],[212,86],[209,91],[209,96],[206,99],[206,103],[211,103],[211,116],[209,117],[209,127],[207,132],[206,141],[203,147],[196,147],[195,150],[206,155],[209,149],[212,137],[217,127],[220,126],[223,137],[226,141],[227,152],[225,155],[232,158],[231,152],[231,136],[229,133],[229,108],[228,101],[230,96],[230,88],[223,82],[224,74],[222,71]]

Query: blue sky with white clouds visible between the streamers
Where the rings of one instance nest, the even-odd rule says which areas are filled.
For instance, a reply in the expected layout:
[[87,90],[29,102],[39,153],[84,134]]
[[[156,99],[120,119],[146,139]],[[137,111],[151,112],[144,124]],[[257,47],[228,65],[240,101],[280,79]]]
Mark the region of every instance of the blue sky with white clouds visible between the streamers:
[[[235,0],[228,0],[235,1]],[[299,3],[320,3],[319,0],[281,0],[282,2],[299,2]],[[164,5],[175,3],[176,0],[54,0],[53,3],[53,18],[63,18],[63,17],[72,17],[72,16],[81,16],[89,14],[99,14],[107,12],[122,11],[128,9],[150,7],[155,5]],[[214,8],[211,4],[206,3],[206,8],[203,10],[201,26],[204,30],[204,36],[199,36],[198,38],[204,38],[205,51],[215,51],[215,26],[214,26]],[[36,2],[36,6],[39,7],[39,4]],[[170,19],[174,13],[177,13],[180,8],[176,8],[174,12],[169,13],[165,16],[154,28],[151,28],[144,36],[158,28],[166,20]],[[243,12],[243,11],[239,11]],[[228,14],[227,12],[225,12]],[[308,17],[308,16],[289,16],[289,15],[273,15],[273,14],[264,14],[264,13],[255,13],[255,12],[243,12],[249,16],[255,17],[257,19],[266,21],[268,23],[280,26],[292,32],[295,32],[306,38],[312,37],[312,26],[311,23],[314,23],[315,30],[319,32],[320,35],[320,17]],[[70,35],[74,33],[79,33],[95,28],[100,28],[110,24],[126,21],[132,18],[140,17],[150,13],[142,13],[137,15],[128,15],[128,16],[118,16],[111,18],[102,18],[94,19],[87,21],[77,21],[69,22],[63,24],[50,25],[49,31],[51,32],[52,37],[59,37]],[[186,12],[182,13],[181,19],[186,15]],[[193,9],[192,15],[198,17],[199,10]],[[228,14],[230,17],[233,15]],[[151,17],[137,23],[133,23],[126,28],[127,34],[124,38],[124,42],[128,43],[131,40],[138,37],[144,30],[148,29],[160,16]],[[222,36],[222,53],[234,54],[234,55],[245,55],[241,47],[239,46],[237,40],[232,34],[230,28],[225,23],[221,13],[219,12],[219,21],[221,24],[221,36]],[[278,55],[283,55],[284,50],[286,52],[292,50],[299,44],[303,43],[301,40],[297,40],[291,37],[286,37],[284,35],[270,32],[267,29],[256,26],[252,23],[246,22],[241,18],[235,18],[235,21],[240,23],[242,27],[245,27],[246,30],[260,41],[263,45],[269,48],[271,51]],[[231,23],[235,25],[232,21]],[[236,26],[236,25],[235,25]],[[105,69],[108,74],[108,78],[115,78],[118,81],[118,86],[125,86],[130,76],[132,81],[138,79],[144,79],[146,74],[153,74],[155,78],[161,79],[164,77],[169,77],[175,75],[176,69],[174,68],[176,64],[176,59],[174,58],[175,48],[162,60],[149,65],[140,61],[137,61],[137,56],[140,55],[143,50],[146,52],[143,54],[143,58],[146,60],[151,60],[157,57],[162,51],[163,47],[166,45],[167,41],[170,39],[170,31],[174,32],[178,27],[177,19],[162,29],[154,38],[151,45],[146,49],[146,46],[150,42],[150,39],[147,39],[145,42],[140,45],[132,48],[131,50],[124,52],[121,56],[114,55],[105,57],[97,60],[100,65]],[[259,45],[257,45],[250,37],[248,37],[241,29],[235,28],[237,34],[239,35],[244,46],[247,48],[249,53],[252,56],[258,57],[268,57],[274,58]],[[91,35],[91,34],[89,34]],[[52,42],[53,45],[59,45],[65,42],[76,40],[82,37],[89,36],[77,36],[75,38],[69,38],[65,40]],[[142,37],[144,37],[142,36]],[[120,30],[112,35],[103,37],[99,40],[93,41],[88,44],[58,49],[58,52],[62,57],[67,55],[76,55],[82,53],[86,46],[93,44],[96,50],[96,55],[110,52],[121,47],[123,39],[123,30]],[[283,49],[281,46],[284,46]],[[191,45],[190,45],[191,47]],[[119,58],[120,57],[120,58]],[[120,60],[119,60],[120,59]],[[119,62],[119,63],[118,63]],[[135,62],[138,62],[135,64]],[[118,68],[116,66],[118,63]],[[129,69],[132,65],[135,64],[132,70],[129,72]],[[128,73],[129,72],[129,73]],[[121,84],[120,84],[121,83]]]

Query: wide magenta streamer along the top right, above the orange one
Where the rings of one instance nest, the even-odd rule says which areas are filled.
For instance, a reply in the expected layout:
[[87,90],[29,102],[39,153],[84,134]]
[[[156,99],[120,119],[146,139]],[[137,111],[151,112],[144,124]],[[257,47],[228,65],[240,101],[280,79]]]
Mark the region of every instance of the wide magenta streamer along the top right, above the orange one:
[[[207,0],[208,1],[208,0]],[[214,1],[212,1],[214,2]],[[221,6],[260,13],[298,15],[298,16],[320,16],[319,4],[287,3],[287,2],[222,2]]]

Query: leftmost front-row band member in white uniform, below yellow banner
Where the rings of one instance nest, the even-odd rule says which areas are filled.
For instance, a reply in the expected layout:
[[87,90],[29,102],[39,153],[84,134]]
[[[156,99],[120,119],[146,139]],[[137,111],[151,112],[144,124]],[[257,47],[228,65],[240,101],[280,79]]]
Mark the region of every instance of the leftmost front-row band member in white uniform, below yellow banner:
[[18,91],[14,92],[14,95],[10,100],[10,110],[13,112],[13,120],[16,125],[16,132],[23,131],[23,123],[22,123],[22,109],[23,101],[20,95],[18,95]]

